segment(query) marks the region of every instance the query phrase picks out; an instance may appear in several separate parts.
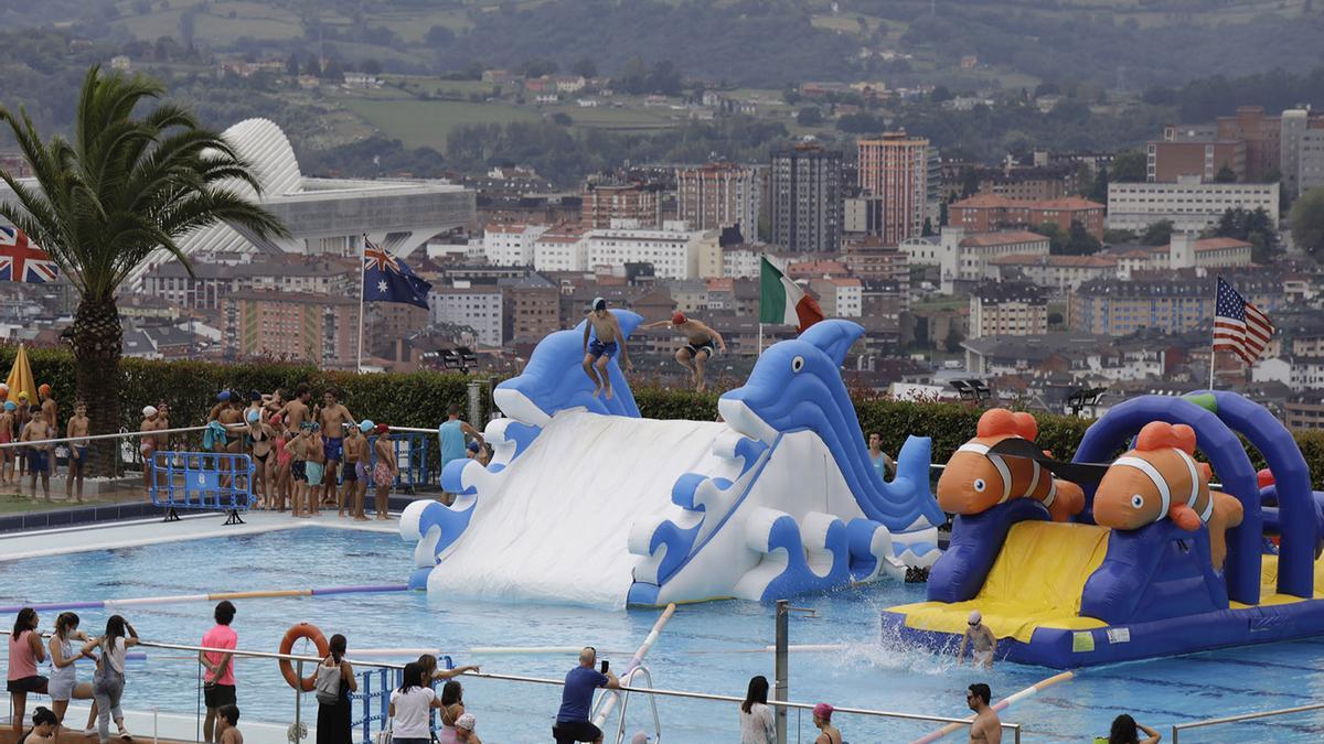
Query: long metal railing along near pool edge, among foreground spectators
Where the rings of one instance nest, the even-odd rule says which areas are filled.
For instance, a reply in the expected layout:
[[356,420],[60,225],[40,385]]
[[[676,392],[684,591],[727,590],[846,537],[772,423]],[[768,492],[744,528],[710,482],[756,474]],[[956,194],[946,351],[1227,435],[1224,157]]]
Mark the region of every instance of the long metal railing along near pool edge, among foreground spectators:
[[[298,655],[298,654],[279,654],[279,653],[273,653],[273,651],[246,651],[246,650],[240,650],[240,649],[216,649],[216,647],[211,647],[211,646],[195,646],[195,645],[188,645],[188,643],[164,643],[164,642],[158,642],[158,641],[139,641],[139,646],[148,647],[148,649],[167,649],[167,650],[173,650],[173,651],[189,651],[192,654],[197,654],[197,653],[201,653],[201,651],[208,651],[208,653],[214,653],[214,654],[232,654],[232,655],[234,655],[237,658],[258,658],[258,659],[273,659],[273,661],[289,661],[289,662],[293,662],[295,665],[295,675],[299,679],[303,678],[303,665],[305,663],[308,663],[308,662],[311,662],[314,665],[322,663],[322,658],[320,657],[305,657],[305,655]],[[404,670],[404,665],[400,665],[400,663],[356,661],[356,659],[352,658],[352,654],[347,654],[346,659],[350,661],[351,663],[360,665],[360,666],[369,667],[369,669],[376,669],[376,670],[395,670],[395,671]],[[201,669],[203,669],[201,665],[199,665],[199,674],[197,674],[199,700],[201,700],[201,686],[203,686]],[[393,673],[391,673],[391,674],[393,675]],[[493,679],[493,680],[502,680],[502,682],[516,682],[516,683],[524,683],[524,684],[551,684],[551,686],[556,686],[556,687],[564,687],[564,684],[565,684],[565,682],[563,679],[548,679],[548,678],[542,678],[542,676],[527,676],[527,675],[518,675],[518,674],[494,674],[494,673],[486,673],[486,671],[483,671],[483,673],[470,671],[470,673],[466,673],[465,676],[473,676],[473,678],[478,678],[478,679]],[[744,702],[744,698],[737,698],[737,696],[733,696],[733,695],[718,695],[718,694],[712,694],[712,692],[692,692],[692,691],[687,691],[687,690],[665,690],[665,688],[658,688],[658,687],[653,687],[651,686],[651,679],[649,679],[649,686],[647,687],[622,686],[620,688],[620,691],[622,694],[626,694],[626,695],[629,695],[629,694],[647,695],[650,700],[653,699],[651,698],[653,695],[661,695],[663,698],[685,698],[685,699],[690,699],[690,700],[707,700],[707,702],[726,703],[726,704],[739,704],[739,703]],[[289,731],[290,731],[290,741],[297,743],[297,741],[299,741],[298,733],[299,732],[305,732],[306,733],[307,727],[303,724],[303,711],[302,711],[303,692],[302,692],[302,690],[293,690],[293,692],[294,692],[294,723],[290,725]],[[367,691],[359,692],[359,695],[364,695],[365,692]],[[365,706],[367,704],[369,704],[369,703],[365,703]],[[768,704],[772,706],[772,707],[775,707],[775,708],[785,708],[785,710],[794,710],[794,711],[813,711],[813,708],[814,708],[814,703],[797,703],[797,702],[793,702],[793,700],[768,700]],[[201,703],[199,703],[199,706],[201,706]],[[1321,707],[1324,707],[1324,706],[1321,706]],[[359,727],[363,728],[365,733],[372,735],[372,733],[375,733],[375,731],[372,731],[372,724],[377,723],[381,719],[380,719],[379,715],[371,714],[371,711],[369,711],[368,707],[364,708],[364,714],[365,714],[364,718],[369,719],[369,720],[367,720],[367,721],[360,720],[359,721],[359,724],[360,724]],[[961,718],[935,716],[935,715],[924,715],[924,714],[904,714],[904,712],[898,712],[898,711],[879,711],[879,710],[871,710],[871,708],[837,707],[837,708],[834,708],[834,714],[839,714],[839,715],[859,715],[859,716],[869,716],[869,718],[883,718],[883,719],[892,719],[892,720],[906,720],[906,721],[911,721],[911,723],[936,723],[936,724],[952,724],[952,723],[955,723],[955,724],[959,724],[959,725],[969,725],[972,723],[969,719],[961,719]],[[661,725],[661,723],[659,723],[659,725]],[[201,710],[199,710],[199,727],[201,727]],[[1013,736],[1013,741],[1016,744],[1021,744],[1021,724],[1002,721],[1002,729],[1004,731],[1010,731],[1012,736]],[[380,731],[380,727],[379,727],[379,731]],[[622,735],[624,735],[624,729],[622,729]]]

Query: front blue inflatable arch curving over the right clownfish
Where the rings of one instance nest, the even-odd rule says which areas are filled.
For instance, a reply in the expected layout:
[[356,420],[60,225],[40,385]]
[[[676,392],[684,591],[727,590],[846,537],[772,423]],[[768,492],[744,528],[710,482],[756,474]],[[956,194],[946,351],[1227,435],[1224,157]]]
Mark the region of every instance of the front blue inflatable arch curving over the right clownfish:
[[[1267,412],[1264,413],[1267,414]],[[1132,398],[1112,408],[1103,418],[1090,426],[1080,440],[1080,447],[1076,450],[1074,461],[1111,461],[1117,450],[1124,447],[1128,440],[1151,421],[1186,424],[1194,429],[1196,446],[1209,458],[1218,473],[1223,490],[1237,496],[1242,503],[1245,519],[1241,527],[1227,534],[1227,563],[1225,567],[1227,598],[1247,605],[1259,604],[1259,568],[1260,551],[1263,549],[1259,483],[1255,479],[1255,469],[1250,463],[1250,457],[1246,455],[1246,447],[1218,416],[1185,398],[1166,396]],[[1298,457],[1300,457],[1299,451]],[[1083,485],[1086,491],[1086,511],[1080,515],[1083,522],[1094,522],[1096,486],[1096,483]],[[1283,541],[1287,543],[1286,536]],[[1311,541],[1305,549],[1313,551],[1313,545],[1315,543]],[[1313,560],[1313,552],[1311,559]]]

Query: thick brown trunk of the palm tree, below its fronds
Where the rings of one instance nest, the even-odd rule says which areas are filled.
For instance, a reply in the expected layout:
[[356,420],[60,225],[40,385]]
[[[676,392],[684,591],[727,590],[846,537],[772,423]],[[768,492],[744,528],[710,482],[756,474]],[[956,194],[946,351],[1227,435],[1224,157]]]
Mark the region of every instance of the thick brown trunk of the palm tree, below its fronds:
[[[70,328],[78,400],[87,404],[93,434],[119,432],[119,355],[124,330],[114,299],[78,303]],[[136,446],[136,445],[135,445]],[[94,440],[89,447],[89,475],[119,474],[119,441]]]

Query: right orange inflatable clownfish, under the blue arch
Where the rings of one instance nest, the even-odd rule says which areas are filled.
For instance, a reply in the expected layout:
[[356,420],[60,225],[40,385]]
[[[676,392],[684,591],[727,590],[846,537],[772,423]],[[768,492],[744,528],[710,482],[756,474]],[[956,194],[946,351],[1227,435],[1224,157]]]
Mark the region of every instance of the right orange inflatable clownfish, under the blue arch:
[[1209,553],[1222,569],[1226,532],[1242,522],[1242,506],[1209,490],[1209,466],[1196,462],[1196,430],[1153,421],[1136,437],[1136,449],[1119,457],[1094,496],[1094,520],[1113,530],[1136,530],[1166,516],[1194,532],[1209,526]]

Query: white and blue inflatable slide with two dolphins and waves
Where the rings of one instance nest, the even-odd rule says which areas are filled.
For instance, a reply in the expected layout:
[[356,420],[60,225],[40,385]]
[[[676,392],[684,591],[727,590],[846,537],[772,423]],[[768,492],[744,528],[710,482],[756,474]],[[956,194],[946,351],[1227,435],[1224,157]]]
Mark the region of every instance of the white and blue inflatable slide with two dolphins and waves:
[[[613,310],[626,336],[641,323]],[[617,361],[612,398],[581,369],[584,326],[543,339],[494,391],[489,466],[446,465],[451,506],[414,502],[410,585],[432,593],[598,606],[772,600],[937,559],[945,515],[929,440],[898,474],[870,465],[841,379],[855,323],[825,320],[767,349],[722,396],[720,421],[642,418]]]

